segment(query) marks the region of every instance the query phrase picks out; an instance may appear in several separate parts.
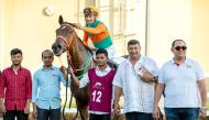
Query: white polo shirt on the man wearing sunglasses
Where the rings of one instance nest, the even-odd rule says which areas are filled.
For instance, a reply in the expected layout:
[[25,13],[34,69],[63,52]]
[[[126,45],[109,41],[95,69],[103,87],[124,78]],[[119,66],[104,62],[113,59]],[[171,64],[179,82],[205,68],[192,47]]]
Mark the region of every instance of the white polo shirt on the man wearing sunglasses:
[[158,83],[165,84],[165,107],[200,107],[197,81],[204,78],[200,65],[193,59],[187,58],[179,66],[173,59],[165,63],[158,75]]

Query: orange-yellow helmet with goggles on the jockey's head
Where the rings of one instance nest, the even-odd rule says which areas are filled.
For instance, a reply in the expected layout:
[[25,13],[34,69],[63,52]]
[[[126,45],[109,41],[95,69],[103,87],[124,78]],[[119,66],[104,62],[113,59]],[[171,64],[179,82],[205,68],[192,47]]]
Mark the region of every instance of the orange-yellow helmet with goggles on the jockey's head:
[[91,15],[91,14],[98,17],[99,15],[99,10],[96,7],[89,6],[89,7],[84,9],[84,14],[85,14],[85,17],[86,15]]

